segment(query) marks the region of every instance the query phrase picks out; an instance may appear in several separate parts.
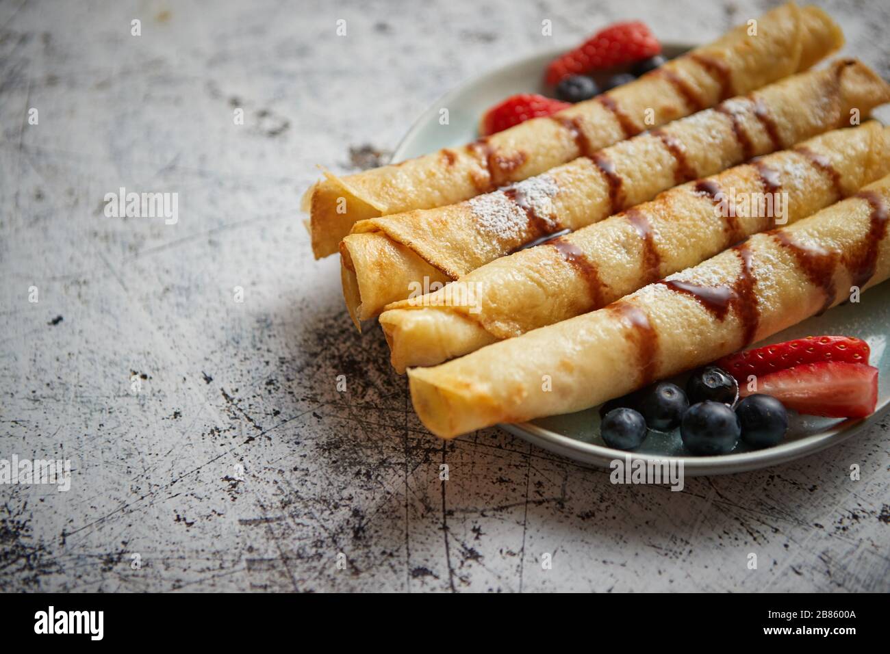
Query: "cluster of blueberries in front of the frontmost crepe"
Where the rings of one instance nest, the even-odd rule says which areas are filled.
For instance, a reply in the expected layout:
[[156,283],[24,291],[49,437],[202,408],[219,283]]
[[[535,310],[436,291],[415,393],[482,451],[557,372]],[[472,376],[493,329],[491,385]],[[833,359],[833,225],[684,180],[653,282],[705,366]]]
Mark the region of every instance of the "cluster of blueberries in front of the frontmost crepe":
[[684,446],[697,455],[728,454],[744,440],[755,448],[778,444],[788,432],[781,401],[756,393],[738,402],[739,384],[722,368],[697,370],[686,384],[660,382],[610,400],[603,407],[601,433],[611,448],[638,448],[649,430],[680,427]]

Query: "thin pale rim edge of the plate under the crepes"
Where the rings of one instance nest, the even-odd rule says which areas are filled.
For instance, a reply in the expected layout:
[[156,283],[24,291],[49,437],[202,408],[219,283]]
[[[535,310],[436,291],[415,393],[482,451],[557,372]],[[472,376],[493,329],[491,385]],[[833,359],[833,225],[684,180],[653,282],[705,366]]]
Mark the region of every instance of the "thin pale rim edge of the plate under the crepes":
[[[681,43],[676,41],[664,42],[663,47],[671,50],[690,50],[698,44]],[[553,47],[538,52],[530,52],[522,58],[502,64],[497,68],[486,70],[478,75],[469,77],[463,82],[456,85],[446,93],[438,96],[411,124],[408,131],[401,137],[398,145],[392,151],[391,163],[398,163],[405,158],[406,150],[409,150],[412,141],[417,139],[417,134],[426,125],[431,116],[436,116],[438,107],[447,105],[452,98],[466,92],[470,86],[480,84],[483,80],[490,77],[498,77],[506,74],[510,69],[527,66],[531,61],[552,58],[558,54],[565,52],[564,47]],[[415,155],[412,155],[412,157]],[[856,434],[870,428],[872,424],[877,422],[879,418],[885,416],[890,411],[890,401],[886,402],[883,407],[878,408],[875,413],[865,418],[846,419],[829,427],[819,433],[805,436],[798,440],[781,443],[781,445],[772,448],[756,449],[748,452],[740,452],[737,454],[727,454],[719,456],[657,456],[651,453],[635,453],[633,451],[609,448],[595,443],[585,442],[583,440],[572,439],[563,436],[561,433],[553,432],[545,427],[530,422],[524,423],[502,423],[496,425],[499,429],[517,436],[532,445],[546,449],[549,452],[565,456],[570,460],[587,466],[596,468],[609,468],[612,461],[616,459],[642,460],[643,462],[683,462],[684,475],[699,476],[711,474],[732,474],[738,472],[749,472],[759,470],[773,465],[785,464],[790,461],[810,456],[820,452],[823,449],[839,445],[845,440],[853,438]]]

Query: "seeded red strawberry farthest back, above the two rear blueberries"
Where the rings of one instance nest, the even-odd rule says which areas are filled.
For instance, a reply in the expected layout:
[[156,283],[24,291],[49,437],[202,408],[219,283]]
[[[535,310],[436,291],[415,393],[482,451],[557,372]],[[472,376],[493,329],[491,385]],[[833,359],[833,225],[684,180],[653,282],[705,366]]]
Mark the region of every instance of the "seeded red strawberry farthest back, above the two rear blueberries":
[[559,84],[564,77],[632,63],[661,52],[661,44],[639,20],[615,23],[597,32],[574,50],[550,62],[546,83]]

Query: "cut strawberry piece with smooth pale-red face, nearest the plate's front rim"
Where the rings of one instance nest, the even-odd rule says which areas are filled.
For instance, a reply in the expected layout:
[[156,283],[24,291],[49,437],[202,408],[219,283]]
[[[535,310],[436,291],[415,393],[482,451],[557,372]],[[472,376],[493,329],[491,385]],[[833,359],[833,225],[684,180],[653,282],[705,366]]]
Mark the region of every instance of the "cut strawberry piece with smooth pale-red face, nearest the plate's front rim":
[[845,361],[805,363],[757,379],[756,391],[740,387],[742,398],[772,395],[788,408],[809,416],[863,418],[878,405],[878,368]]

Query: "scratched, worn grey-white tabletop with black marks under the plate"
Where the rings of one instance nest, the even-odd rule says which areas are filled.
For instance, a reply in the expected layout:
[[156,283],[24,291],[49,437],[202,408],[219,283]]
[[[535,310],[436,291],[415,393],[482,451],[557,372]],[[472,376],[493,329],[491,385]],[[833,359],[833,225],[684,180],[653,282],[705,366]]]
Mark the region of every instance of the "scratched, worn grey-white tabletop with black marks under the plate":
[[[886,3],[825,4],[890,76]],[[890,590],[886,420],[679,493],[494,429],[443,443],[296,212],[316,164],[374,164],[440,93],[552,44],[541,20],[707,40],[765,5],[0,2],[0,458],[74,466],[69,492],[0,487],[0,588]],[[178,193],[179,221],[107,218],[122,186]]]

